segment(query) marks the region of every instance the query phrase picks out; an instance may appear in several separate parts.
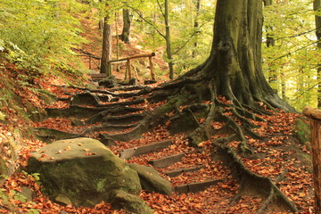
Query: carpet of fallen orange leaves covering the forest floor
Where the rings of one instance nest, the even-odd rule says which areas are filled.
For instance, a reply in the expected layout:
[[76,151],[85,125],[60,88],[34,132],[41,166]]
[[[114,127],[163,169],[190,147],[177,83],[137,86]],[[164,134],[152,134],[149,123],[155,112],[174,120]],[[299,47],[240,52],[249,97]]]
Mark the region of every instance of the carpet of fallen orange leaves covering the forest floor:
[[[95,26],[93,28],[96,28]],[[98,31],[99,32],[99,31]],[[87,34],[88,35],[88,34]],[[96,35],[99,37],[99,33]],[[86,36],[89,37],[89,36]],[[96,39],[97,38],[91,38]],[[98,41],[98,40],[97,40]],[[98,47],[87,46],[84,47],[86,52],[98,54],[96,50]],[[128,51],[127,54],[141,53],[134,50]],[[160,68],[165,68],[166,64],[160,59]],[[119,72],[120,77],[121,72]],[[57,96],[60,100],[50,105],[42,102],[37,95],[33,94],[31,90],[26,89],[23,95],[24,99],[29,99],[35,105],[48,109],[69,109],[70,100],[72,95],[81,93],[85,88],[66,86],[61,78],[49,77],[45,79],[37,79],[37,84],[47,89]],[[89,84],[89,82],[88,82]],[[151,87],[156,87],[153,85]],[[130,87],[128,87],[130,88]],[[122,95],[137,92],[125,91],[128,88],[99,88],[103,91],[112,91],[114,95],[119,95],[118,103],[102,102],[103,105],[119,105],[119,103],[132,102],[142,98],[142,103],[128,104],[128,107],[136,108],[137,114],[144,115],[156,110],[159,106],[169,101],[164,100],[159,103],[146,102],[146,95],[140,97]],[[30,93],[27,93],[30,92]],[[224,102],[224,101],[222,101]],[[95,109],[95,106],[83,106],[86,108]],[[185,106],[180,106],[183,111]],[[127,113],[130,115],[133,113]],[[121,116],[121,115],[116,115]],[[262,116],[261,116],[262,117]],[[252,172],[262,177],[269,177],[276,186],[286,195],[286,197],[294,203],[300,213],[313,213],[313,181],[312,181],[312,166],[310,161],[309,144],[300,143],[297,139],[295,130],[295,121],[302,118],[300,114],[288,113],[284,111],[273,112],[272,115],[264,116],[265,121],[252,121],[258,128],[255,132],[263,139],[258,140],[246,136],[249,146],[253,154],[239,155],[243,161],[244,166]],[[23,126],[23,122],[12,116],[11,122],[1,124],[0,134],[11,136],[12,133],[8,132],[8,126]],[[85,120],[83,118],[82,120]],[[304,119],[303,119],[304,120]],[[87,128],[98,127],[102,124],[91,124],[83,126],[72,125],[73,119],[70,117],[49,117],[40,122],[32,123],[34,128],[53,128],[68,133],[82,134]],[[138,122],[138,121],[135,121]],[[128,124],[134,124],[131,121]],[[202,124],[203,119],[199,119]],[[20,124],[20,125],[19,125]],[[127,125],[128,125],[127,124]],[[256,213],[264,202],[264,198],[259,193],[247,192],[239,194],[239,183],[235,179],[231,169],[226,167],[225,162],[220,158],[218,149],[212,144],[213,140],[218,137],[226,136],[228,133],[221,133],[217,136],[212,136],[211,140],[199,144],[199,148],[190,147],[187,143],[184,133],[173,135],[169,131],[169,123],[164,126],[158,126],[152,130],[145,132],[139,139],[130,139],[128,141],[116,141],[110,149],[115,154],[119,155],[120,152],[128,148],[137,148],[142,145],[162,142],[171,140],[171,144],[157,152],[148,152],[138,157],[132,157],[128,162],[136,162],[146,166],[151,166],[151,161],[159,160],[164,157],[184,153],[185,156],[177,162],[170,164],[165,168],[156,168],[162,177],[169,179],[171,185],[182,186],[186,184],[195,184],[207,181],[216,181],[215,184],[204,186],[196,191],[188,191],[188,193],[174,192],[172,195],[167,196],[161,193],[147,193],[142,191],[140,197],[146,202],[154,213]],[[215,122],[212,128],[222,128],[224,124]],[[123,129],[118,132],[103,131],[103,134],[117,135],[120,133],[129,132],[131,129]],[[86,134],[86,136],[98,138],[102,132],[93,132]],[[23,138],[24,142],[20,148],[20,158],[17,163],[24,169],[28,166],[28,159],[30,152],[36,151],[46,143],[30,136],[29,139]],[[237,145],[240,142],[229,142],[229,146],[236,151]],[[170,177],[169,172],[178,169],[190,169],[197,167],[193,171],[183,171],[176,177]],[[255,185],[255,184],[253,184]],[[33,189],[36,194],[34,199],[30,202],[25,202],[21,198],[21,188],[28,186]],[[32,211],[38,210],[40,213],[125,213],[124,210],[113,210],[108,203],[100,203],[95,208],[75,208],[70,205],[64,207],[58,203],[50,201],[45,195],[41,193],[41,186],[37,183],[37,177],[32,177],[26,173],[17,172],[12,177],[6,177],[2,192],[7,193],[10,197],[1,197],[0,212],[1,213],[36,213]],[[200,191],[201,190],[201,191]],[[240,196],[240,197],[237,197]],[[5,199],[5,200],[4,200]],[[11,206],[10,204],[14,204]],[[63,212],[64,211],[64,212]],[[264,213],[264,212],[263,212]],[[287,211],[280,211],[277,207],[269,207],[266,213],[288,213]]]

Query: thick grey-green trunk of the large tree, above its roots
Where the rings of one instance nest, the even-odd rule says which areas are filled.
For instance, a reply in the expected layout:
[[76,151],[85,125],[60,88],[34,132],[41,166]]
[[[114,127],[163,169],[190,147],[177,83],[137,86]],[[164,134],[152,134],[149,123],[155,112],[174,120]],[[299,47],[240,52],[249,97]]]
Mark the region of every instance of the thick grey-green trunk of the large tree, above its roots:
[[260,1],[218,0],[212,50],[203,71],[214,79],[218,95],[235,103],[290,110],[261,70],[262,24]]

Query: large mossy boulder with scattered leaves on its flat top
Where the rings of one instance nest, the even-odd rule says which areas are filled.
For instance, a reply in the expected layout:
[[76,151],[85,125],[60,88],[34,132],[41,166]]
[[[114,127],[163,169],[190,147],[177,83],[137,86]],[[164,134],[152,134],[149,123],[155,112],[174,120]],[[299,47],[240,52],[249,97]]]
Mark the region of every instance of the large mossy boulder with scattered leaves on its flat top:
[[128,163],[86,137],[56,141],[32,152],[28,171],[40,174],[44,193],[51,199],[64,195],[75,206],[114,202],[117,190],[127,194],[141,190],[139,177]]

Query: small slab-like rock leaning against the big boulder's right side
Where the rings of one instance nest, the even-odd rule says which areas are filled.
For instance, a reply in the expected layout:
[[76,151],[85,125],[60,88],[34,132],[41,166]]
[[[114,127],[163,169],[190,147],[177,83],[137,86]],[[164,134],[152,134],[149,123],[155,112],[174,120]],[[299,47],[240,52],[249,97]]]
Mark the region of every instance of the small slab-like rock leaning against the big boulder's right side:
[[142,166],[136,163],[129,164],[131,169],[136,170],[138,173],[141,185],[144,190],[155,193],[163,193],[170,195],[172,193],[172,187],[170,182],[161,177],[156,169],[152,167]]

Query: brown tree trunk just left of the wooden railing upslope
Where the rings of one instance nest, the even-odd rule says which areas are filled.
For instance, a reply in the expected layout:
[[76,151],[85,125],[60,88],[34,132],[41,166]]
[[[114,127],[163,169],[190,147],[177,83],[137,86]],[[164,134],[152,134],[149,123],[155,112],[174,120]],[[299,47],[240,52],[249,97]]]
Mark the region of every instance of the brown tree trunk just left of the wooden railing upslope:
[[100,73],[105,73],[108,76],[111,76],[111,66],[109,61],[111,61],[112,53],[112,35],[111,35],[111,22],[109,16],[104,18],[103,23],[103,52],[102,52],[102,62]]

